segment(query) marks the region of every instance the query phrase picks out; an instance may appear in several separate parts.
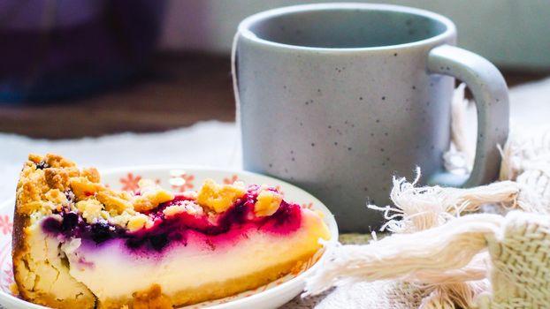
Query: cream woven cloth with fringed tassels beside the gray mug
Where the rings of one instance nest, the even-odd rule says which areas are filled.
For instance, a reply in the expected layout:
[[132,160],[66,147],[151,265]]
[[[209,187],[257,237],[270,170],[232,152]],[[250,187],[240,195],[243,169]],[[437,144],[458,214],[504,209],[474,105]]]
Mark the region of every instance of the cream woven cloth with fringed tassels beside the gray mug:
[[[445,157],[458,172],[470,170],[473,154],[462,132],[466,106],[459,87]],[[514,128],[501,154],[500,182],[491,185],[417,187],[419,171],[410,183],[394,178],[394,206],[368,206],[385,213],[393,235],[326,244],[328,259],[304,296],[336,286],[321,309],[550,307],[550,127]]]

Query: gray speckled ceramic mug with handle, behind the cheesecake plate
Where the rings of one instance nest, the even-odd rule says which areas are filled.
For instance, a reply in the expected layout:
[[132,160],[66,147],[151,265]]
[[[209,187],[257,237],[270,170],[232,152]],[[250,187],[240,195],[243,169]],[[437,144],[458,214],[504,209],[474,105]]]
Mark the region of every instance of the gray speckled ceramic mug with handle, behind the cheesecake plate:
[[[233,48],[244,168],[314,193],[342,231],[367,231],[393,175],[480,185],[497,176],[508,89],[482,57],[455,46],[455,25],[430,11],[309,4],[244,19]],[[477,102],[468,179],[442,170],[455,79]],[[475,125],[475,124],[472,124]]]

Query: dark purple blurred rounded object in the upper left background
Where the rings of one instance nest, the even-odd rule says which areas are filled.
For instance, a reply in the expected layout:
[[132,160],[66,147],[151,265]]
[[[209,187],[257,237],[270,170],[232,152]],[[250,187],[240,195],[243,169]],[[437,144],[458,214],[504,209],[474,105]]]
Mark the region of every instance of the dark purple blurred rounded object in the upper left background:
[[0,101],[62,99],[117,86],[154,51],[165,1],[0,1]]

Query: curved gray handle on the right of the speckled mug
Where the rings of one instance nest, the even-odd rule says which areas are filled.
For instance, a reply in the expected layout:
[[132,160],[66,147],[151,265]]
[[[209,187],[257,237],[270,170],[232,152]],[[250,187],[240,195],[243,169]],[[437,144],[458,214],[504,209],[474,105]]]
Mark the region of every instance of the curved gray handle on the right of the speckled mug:
[[451,45],[428,54],[428,71],[460,79],[473,94],[477,107],[477,146],[470,177],[439,171],[431,185],[476,186],[492,182],[499,174],[500,152],[508,138],[508,87],[499,70],[484,57]]

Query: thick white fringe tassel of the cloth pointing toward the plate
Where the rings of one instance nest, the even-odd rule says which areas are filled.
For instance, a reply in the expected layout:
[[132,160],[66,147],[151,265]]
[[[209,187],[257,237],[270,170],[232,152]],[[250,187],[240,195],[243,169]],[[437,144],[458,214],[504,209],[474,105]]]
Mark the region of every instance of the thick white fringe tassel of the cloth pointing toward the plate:
[[500,215],[466,215],[439,227],[394,234],[369,245],[334,245],[323,270],[311,277],[306,293],[337,283],[401,279],[409,283],[462,283],[485,278],[465,268],[500,233]]

